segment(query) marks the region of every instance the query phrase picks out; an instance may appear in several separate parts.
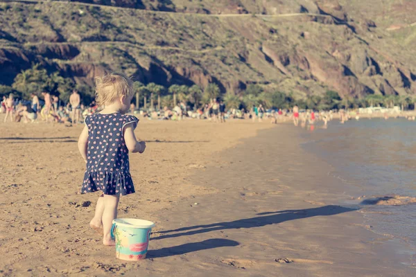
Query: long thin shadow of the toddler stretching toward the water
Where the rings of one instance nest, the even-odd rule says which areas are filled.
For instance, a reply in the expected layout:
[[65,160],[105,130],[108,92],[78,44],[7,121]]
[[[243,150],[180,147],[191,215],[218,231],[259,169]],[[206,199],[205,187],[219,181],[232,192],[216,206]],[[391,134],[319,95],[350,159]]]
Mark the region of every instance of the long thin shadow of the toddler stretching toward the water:
[[[285,211],[275,211],[267,213],[259,213],[257,215],[266,215],[259,217],[245,218],[242,220],[234,220],[231,222],[218,222],[214,224],[206,225],[196,225],[189,226],[180,229],[159,231],[157,233],[172,233],[172,232],[183,232],[183,233],[173,233],[161,235],[152,240],[161,240],[163,238],[177,238],[182,235],[195,235],[200,233],[207,233],[211,231],[220,231],[227,229],[241,229],[241,228],[254,228],[261,227],[270,224],[279,224],[281,222],[286,222],[290,220],[300,220],[302,218],[315,217],[315,216],[329,216],[329,215],[338,215],[340,213],[347,213],[350,211],[356,211],[354,208],[345,208],[342,206],[322,206],[318,208],[305,208],[303,210],[285,210]],[[198,229],[198,230],[196,230]]]

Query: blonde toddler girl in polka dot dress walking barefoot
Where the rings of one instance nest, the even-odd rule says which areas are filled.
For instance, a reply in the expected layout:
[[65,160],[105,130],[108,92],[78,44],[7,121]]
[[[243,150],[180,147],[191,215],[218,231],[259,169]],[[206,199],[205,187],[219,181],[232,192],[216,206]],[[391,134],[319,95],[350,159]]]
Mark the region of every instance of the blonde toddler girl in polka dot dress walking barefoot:
[[135,137],[139,120],[125,115],[133,93],[132,81],[124,75],[112,73],[96,78],[96,102],[105,108],[85,118],[78,140],[78,149],[87,163],[81,193],[103,192],[89,226],[103,232],[104,245],[115,245],[110,230],[120,195],[135,193],[128,153],[143,153],[146,149],[146,143]]

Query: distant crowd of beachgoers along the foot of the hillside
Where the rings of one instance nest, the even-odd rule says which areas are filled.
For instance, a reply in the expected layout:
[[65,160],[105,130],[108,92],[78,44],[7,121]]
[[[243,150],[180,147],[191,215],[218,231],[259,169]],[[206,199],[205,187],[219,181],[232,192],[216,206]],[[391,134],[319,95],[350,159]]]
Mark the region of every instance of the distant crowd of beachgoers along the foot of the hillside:
[[[40,100],[40,97],[43,100]],[[19,122],[24,120],[25,123],[44,120],[46,122],[78,124],[83,123],[85,117],[101,111],[102,107],[98,107],[95,101],[89,106],[85,106],[81,102],[78,91],[73,90],[69,97],[69,102],[65,105],[58,96],[53,96],[48,92],[42,92],[37,95],[31,94],[31,101],[17,100],[10,93],[8,97],[3,96],[0,111],[6,113],[4,122],[10,120]],[[270,120],[270,123],[286,122],[293,120],[295,126],[313,126],[315,121],[320,120],[323,127],[327,127],[329,120],[334,116],[340,118],[341,123],[352,117],[351,113],[344,110],[340,111],[320,111],[315,114],[313,110],[302,110],[296,105],[293,109],[265,109],[263,105],[253,105],[251,109],[227,109],[223,100],[212,99],[206,105],[198,109],[190,109],[185,102],[178,102],[171,109],[164,107],[159,111],[150,109],[137,110],[135,104],[130,105],[130,114],[140,114],[149,120],[183,120],[184,118],[196,118],[211,120],[214,123],[225,123],[228,119],[246,119],[252,122],[263,122]],[[356,113],[358,120],[359,114]]]

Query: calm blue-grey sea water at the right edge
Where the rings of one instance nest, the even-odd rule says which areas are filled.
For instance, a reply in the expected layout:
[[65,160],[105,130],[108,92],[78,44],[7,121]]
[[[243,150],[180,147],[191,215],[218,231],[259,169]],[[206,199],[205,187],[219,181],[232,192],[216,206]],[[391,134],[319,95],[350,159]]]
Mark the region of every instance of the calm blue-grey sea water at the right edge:
[[416,249],[416,203],[365,202],[381,196],[416,197],[416,121],[333,120],[327,129],[322,127],[305,128],[303,147],[332,165],[328,175],[354,197],[349,203],[360,206],[372,231]]

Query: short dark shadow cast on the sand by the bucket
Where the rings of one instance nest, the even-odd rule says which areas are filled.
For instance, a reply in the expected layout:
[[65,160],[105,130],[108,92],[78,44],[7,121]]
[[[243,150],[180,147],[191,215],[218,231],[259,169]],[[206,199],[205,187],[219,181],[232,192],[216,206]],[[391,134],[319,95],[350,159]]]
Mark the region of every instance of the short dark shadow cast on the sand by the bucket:
[[234,240],[213,238],[210,240],[204,240],[202,242],[190,242],[177,245],[175,247],[165,247],[157,250],[149,250],[148,258],[164,258],[218,247],[236,247],[237,245],[239,245],[239,242]]

